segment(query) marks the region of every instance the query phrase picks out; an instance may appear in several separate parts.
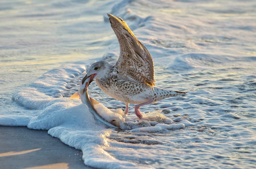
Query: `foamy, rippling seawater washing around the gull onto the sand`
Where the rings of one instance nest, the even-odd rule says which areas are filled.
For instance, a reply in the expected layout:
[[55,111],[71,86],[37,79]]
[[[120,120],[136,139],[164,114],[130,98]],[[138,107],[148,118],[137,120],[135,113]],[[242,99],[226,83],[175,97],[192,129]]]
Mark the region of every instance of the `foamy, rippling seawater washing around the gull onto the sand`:
[[[130,105],[123,130],[68,99],[93,62],[118,58],[107,12],[151,53],[156,85],[187,92],[140,109],[161,118]],[[99,169],[255,168],[254,0],[2,0],[0,14],[0,125],[48,130]],[[125,108],[95,82],[89,95]]]

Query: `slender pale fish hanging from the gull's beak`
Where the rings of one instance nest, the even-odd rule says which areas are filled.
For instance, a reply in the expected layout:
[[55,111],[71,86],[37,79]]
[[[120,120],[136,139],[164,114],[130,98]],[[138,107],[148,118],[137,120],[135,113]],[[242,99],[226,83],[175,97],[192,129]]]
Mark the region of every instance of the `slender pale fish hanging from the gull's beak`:
[[[90,79],[89,79],[90,80]],[[82,103],[86,104],[90,113],[94,116],[95,119],[97,119],[98,121],[102,122],[103,124],[112,127],[112,128],[116,128],[119,129],[120,128],[120,124],[119,121],[120,119],[117,118],[113,118],[109,121],[107,121],[105,118],[103,118],[95,109],[94,105],[98,104],[99,102],[96,101],[95,99],[89,97],[88,94],[88,85],[90,82],[88,82],[87,80],[85,81],[85,83],[82,84],[82,80],[80,82],[80,86],[79,86],[79,90],[74,93],[70,99],[78,99],[78,97],[80,98],[80,100],[82,101]],[[107,108],[106,108],[107,109]],[[109,110],[110,111],[110,110]],[[112,124],[111,124],[112,123]],[[114,125],[115,124],[115,125]]]

